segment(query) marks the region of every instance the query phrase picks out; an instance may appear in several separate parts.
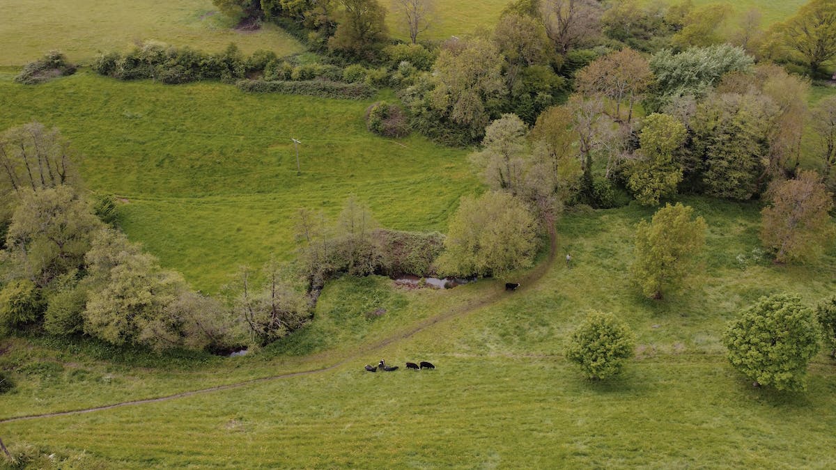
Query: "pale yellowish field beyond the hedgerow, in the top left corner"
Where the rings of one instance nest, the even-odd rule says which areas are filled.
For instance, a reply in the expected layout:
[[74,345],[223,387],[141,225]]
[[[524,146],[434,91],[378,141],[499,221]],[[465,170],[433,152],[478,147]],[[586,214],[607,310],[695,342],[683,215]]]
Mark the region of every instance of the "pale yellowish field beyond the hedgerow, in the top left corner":
[[0,65],[23,65],[50,49],[88,62],[97,51],[125,50],[139,41],[219,51],[237,43],[244,52],[271,49],[279,55],[302,46],[280,28],[238,33],[211,0],[0,0]]

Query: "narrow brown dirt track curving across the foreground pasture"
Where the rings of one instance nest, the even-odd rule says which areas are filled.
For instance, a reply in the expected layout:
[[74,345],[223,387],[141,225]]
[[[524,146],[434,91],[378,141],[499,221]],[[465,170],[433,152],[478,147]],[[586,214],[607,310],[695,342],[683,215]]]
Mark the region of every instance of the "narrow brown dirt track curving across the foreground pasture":
[[[557,234],[554,231],[553,227],[549,227],[548,232],[548,260],[545,263],[540,264],[537,268],[534,268],[531,273],[528,273],[525,278],[521,279],[521,289],[528,289],[533,284],[536,284],[543,276],[548,273],[548,270],[554,264],[554,258],[557,253],[558,249],[558,241],[557,241]],[[298,372],[288,372],[286,374],[278,374],[278,375],[270,375],[268,377],[261,377],[258,379],[251,379],[249,381],[241,381],[235,382],[232,384],[227,384],[223,386],[212,386],[208,388],[201,388],[198,390],[192,391],[181,391],[180,393],[175,393],[173,395],[166,395],[166,396],[158,396],[156,398],[145,398],[143,400],[132,400],[132,401],[122,401],[120,403],[114,403],[112,405],[104,405],[104,406],[94,406],[93,408],[84,408],[80,410],[71,410],[71,411],[58,411],[54,413],[43,413],[38,415],[26,415],[26,416],[16,416],[11,418],[4,418],[0,419],[0,424],[5,422],[12,422],[12,421],[24,421],[24,420],[33,420],[38,418],[49,418],[54,416],[67,416],[67,415],[78,415],[81,413],[91,413],[93,411],[104,411],[110,410],[113,408],[120,408],[122,406],[133,406],[133,405],[142,405],[144,403],[154,403],[156,401],[169,401],[175,400],[177,398],[184,398],[186,396],[194,396],[199,395],[202,393],[211,393],[213,391],[224,391],[230,390],[234,388],[240,388],[242,386],[248,386],[251,384],[257,384],[260,382],[268,382],[268,381],[278,381],[280,379],[289,379],[292,377],[298,377],[300,375],[312,375],[312,374],[319,374],[322,372],[326,372],[328,370],[334,370],[341,365],[345,365],[351,361],[358,360],[361,355],[369,354],[375,350],[379,350],[387,345],[391,345],[395,342],[399,342],[402,340],[406,340],[411,336],[420,333],[427,328],[430,328],[432,325],[444,322],[448,319],[464,317],[467,314],[470,314],[477,309],[482,309],[483,307],[487,307],[490,304],[495,304],[502,299],[507,299],[507,294],[505,291],[497,291],[492,295],[488,295],[482,299],[468,302],[466,304],[462,304],[461,306],[457,307],[456,309],[451,309],[444,314],[436,315],[435,317],[431,317],[429,319],[425,319],[418,324],[415,324],[410,330],[402,331],[397,335],[391,335],[384,340],[380,340],[376,343],[371,345],[365,345],[354,352],[353,355],[349,355],[344,360],[340,360],[332,365],[322,367],[319,369],[311,369],[311,370],[301,370]]]

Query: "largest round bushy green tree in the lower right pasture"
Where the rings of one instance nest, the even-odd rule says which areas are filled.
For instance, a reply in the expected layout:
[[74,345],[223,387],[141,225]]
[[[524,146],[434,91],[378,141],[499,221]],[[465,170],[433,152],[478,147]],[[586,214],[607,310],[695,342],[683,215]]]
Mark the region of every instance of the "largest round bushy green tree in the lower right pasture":
[[762,297],[728,324],[723,344],[732,365],[755,386],[801,391],[820,335],[813,310],[798,296]]

